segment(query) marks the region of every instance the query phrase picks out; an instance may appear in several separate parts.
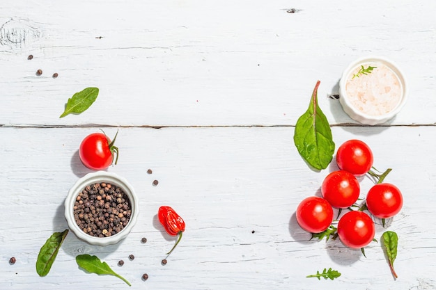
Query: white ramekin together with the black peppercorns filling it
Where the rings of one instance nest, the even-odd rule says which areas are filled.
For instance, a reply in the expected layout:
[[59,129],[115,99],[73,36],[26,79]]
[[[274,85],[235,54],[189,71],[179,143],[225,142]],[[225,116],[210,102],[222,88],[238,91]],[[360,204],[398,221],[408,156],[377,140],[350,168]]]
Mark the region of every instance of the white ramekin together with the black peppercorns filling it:
[[65,219],[76,236],[92,245],[124,239],[137,222],[137,195],[127,180],[98,171],[81,177],[68,191]]

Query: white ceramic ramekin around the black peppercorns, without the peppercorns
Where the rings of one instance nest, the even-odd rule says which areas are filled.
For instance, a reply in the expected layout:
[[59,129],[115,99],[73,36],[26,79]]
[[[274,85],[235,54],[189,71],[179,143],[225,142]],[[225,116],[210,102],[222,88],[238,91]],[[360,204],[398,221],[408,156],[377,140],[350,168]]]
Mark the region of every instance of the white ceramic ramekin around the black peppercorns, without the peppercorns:
[[[132,211],[127,225],[117,234],[107,237],[91,236],[83,232],[83,230],[80,229],[79,225],[77,225],[75,221],[73,209],[77,195],[79,195],[79,193],[83,191],[86,186],[102,182],[113,184],[114,186],[122,188],[130,200],[130,208]],[[79,239],[91,243],[92,245],[111,245],[124,239],[137,222],[138,214],[138,199],[137,195],[134,193],[133,187],[129,184],[129,182],[127,182],[126,179],[111,172],[97,171],[88,173],[84,177],[81,177],[79,180],[77,180],[75,185],[72,186],[70,191],[68,191],[67,198],[65,199],[65,219],[68,222],[68,226]]]

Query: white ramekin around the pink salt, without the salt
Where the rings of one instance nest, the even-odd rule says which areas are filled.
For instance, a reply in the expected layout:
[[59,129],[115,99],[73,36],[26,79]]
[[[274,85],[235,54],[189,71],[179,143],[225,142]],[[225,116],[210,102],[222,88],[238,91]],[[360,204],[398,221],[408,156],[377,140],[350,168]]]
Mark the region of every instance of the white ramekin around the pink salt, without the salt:
[[[364,63],[372,63],[372,62],[382,63],[387,67],[389,67],[394,72],[394,74],[398,76],[400,84],[403,88],[403,94],[400,97],[400,102],[398,102],[397,106],[392,111],[389,111],[389,113],[386,113],[384,115],[370,115],[368,113],[359,111],[357,108],[355,108],[355,106],[352,105],[345,91],[346,82],[350,74],[352,74],[352,71],[355,70],[356,67],[360,67]],[[407,100],[407,95],[408,95],[408,87],[403,72],[401,72],[401,70],[398,68],[398,65],[396,65],[392,61],[389,61],[387,58],[384,58],[383,56],[367,56],[364,58],[359,58],[356,61],[353,61],[343,71],[341,80],[339,81],[339,102],[341,103],[343,111],[345,111],[345,113],[347,113],[350,116],[350,118],[356,120],[357,122],[360,122],[361,124],[369,124],[369,125],[382,124],[384,122],[387,122],[391,118],[394,118],[394,116],[403,108]]]

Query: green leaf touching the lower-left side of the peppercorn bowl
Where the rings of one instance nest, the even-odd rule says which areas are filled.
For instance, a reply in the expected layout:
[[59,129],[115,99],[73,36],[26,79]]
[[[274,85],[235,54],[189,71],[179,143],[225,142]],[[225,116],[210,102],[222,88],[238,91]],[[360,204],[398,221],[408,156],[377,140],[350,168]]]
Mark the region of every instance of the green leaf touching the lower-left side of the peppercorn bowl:
[[38,273],[40,277],[44,277],[49,273],[67,234],[68,229],[65,229],[63,232],[55,232],[47,239],[45,244],[42,245],[38,259],[36,259],[36,273]]

